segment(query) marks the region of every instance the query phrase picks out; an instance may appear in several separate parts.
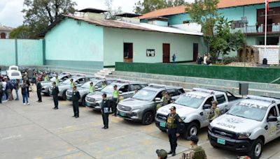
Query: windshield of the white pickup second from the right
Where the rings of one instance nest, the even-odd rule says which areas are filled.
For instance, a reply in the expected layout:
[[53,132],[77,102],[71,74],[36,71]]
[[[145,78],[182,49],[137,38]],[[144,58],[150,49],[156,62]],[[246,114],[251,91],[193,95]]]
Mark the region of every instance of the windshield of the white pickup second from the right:
[[174,103],[177,105],[183,105],[186,107],[193,107],[198,108],[202,104],[204,100],[204,97],[202,96],[196,96],[192,94],[185,94],[183,96],[180,96],[177,100],[175,100]]

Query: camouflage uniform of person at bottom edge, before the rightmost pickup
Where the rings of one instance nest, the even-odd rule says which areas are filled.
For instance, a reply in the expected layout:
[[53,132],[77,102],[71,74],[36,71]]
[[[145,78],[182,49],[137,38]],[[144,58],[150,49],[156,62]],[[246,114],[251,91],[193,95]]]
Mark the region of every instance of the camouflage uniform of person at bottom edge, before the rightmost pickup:
[[207,159],[202,146],[192,146],[189,153],[183,153],[180,159]]

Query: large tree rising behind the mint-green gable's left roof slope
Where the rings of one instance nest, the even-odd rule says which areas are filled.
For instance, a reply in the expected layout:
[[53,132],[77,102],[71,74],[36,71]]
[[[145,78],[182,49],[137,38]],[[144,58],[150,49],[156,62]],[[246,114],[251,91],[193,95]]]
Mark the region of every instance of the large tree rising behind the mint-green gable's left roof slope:
[[45,31],[60,15],[69,15],[76,11],[76,2],[71,0],[25,0],[23,5],[24,24],[34,31],[32,38]]

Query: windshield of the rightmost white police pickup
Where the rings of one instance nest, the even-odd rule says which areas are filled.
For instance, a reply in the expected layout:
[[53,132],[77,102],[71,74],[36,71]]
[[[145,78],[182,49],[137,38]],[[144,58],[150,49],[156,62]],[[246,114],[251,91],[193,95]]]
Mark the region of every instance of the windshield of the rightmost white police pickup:
[[266,112],[267,112],[267,107],[257,107],[257,105],[253,107],[248,107],[245,105],[235,105],[230,109],[228,114],[239,116],[246,119],[262,121],[262,119],[265,117]]

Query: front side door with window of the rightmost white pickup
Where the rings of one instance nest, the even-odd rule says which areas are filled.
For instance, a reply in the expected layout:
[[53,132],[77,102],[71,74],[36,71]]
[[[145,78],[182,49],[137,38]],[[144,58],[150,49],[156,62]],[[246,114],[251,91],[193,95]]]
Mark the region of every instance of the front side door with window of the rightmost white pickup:
[[[269,109],[269,112],[266,116],[266,119],[269,118],[269,116],[275,116],[275,117],[279,117],[278,112],[276,111],[276,107],[273,106]],[[276,134],[277,130],[277,124],[279,123],[279,121],[274,121],[274,122],[267,122],[267,130],[266,130],[266,133],[265,133],[265,137],[267,139],[267,142],[270,142],[272,141],[272,139],[275,139],[276,137],[278,137],[279,135]]]

